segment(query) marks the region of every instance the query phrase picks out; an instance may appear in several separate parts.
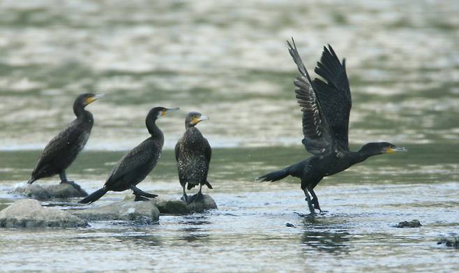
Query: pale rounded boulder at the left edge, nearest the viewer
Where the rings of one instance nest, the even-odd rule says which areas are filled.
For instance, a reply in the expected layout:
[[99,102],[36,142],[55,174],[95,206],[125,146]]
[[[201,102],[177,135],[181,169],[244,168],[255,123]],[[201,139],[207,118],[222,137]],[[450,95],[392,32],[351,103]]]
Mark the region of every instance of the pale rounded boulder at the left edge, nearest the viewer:
[[86,227],[83,219],[54,208],[42,207],[38,200],[17,200],[0,212],[1,228],[77,228]]

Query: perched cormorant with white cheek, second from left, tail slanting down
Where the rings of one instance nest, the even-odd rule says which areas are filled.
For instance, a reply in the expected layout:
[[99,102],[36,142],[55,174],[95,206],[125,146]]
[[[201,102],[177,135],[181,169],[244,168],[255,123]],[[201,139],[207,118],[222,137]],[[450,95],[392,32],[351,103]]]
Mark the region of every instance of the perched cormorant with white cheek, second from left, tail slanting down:
[[180,108],[152,108],[146,115],[145,124],[151,137],[144,140],[140,145],[130,150],[114,166],[110,177],[105,185],[89,196],[80,200],[80,203],[91,203],[99,200],[107,191],[126,191],[132,189],[135,201],[148,200],[144,197],[155,198],[156,194],[146,193],[137,188],[137,184],[155,168],[161,156],[164,144],[163,132],[156,125],[156,119],[165,116],[168,112],[175,112]]

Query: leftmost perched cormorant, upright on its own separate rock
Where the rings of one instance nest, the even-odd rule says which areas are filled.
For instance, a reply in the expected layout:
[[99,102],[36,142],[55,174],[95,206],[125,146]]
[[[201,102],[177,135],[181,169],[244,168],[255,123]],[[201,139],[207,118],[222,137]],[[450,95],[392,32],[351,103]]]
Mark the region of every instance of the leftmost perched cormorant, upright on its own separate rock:
[[81,94],[75,99],[73,112],[77,118],[46,145],[27,183],[32,184],[40,178],[59,174],[61,183],[68,183],[80,189],[75,182],[67,180],[66,169],[77,158],[91,134],[94,123],[93,115],[84,108],[103,96]]

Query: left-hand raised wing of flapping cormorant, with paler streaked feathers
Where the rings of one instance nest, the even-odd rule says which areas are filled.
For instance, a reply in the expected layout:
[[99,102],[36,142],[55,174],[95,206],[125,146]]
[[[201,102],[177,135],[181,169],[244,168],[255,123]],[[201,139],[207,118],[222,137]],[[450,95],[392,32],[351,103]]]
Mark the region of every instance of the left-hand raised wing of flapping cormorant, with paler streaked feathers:
[[287,41],[289,53],[301,73],[301,76],[296,77],[294,85],[296,98],[303,112],[303,145],[311,154],[324,154],[331,151],[333,145],[330,128],[293,38],[292,43],[293,46]]

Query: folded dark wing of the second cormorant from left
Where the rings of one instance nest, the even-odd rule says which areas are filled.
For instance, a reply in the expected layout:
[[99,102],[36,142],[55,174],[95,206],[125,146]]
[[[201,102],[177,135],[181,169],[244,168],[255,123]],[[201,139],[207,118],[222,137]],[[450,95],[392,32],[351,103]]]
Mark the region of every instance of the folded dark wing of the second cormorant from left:
[[116,182],[118,179],[125,175],[129,175],[131,172],[137,172],[151,162],[151,159],[156,157],[156,161],[160,157],[161,150],[150,140],[144,140],[137,147],[130,150],[128,154],[124,155],[119,163],[113,168],[110,177],[105,182],[106,185],[110,185],[111,182]]

